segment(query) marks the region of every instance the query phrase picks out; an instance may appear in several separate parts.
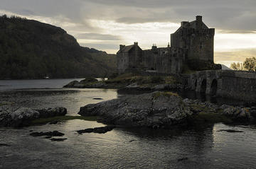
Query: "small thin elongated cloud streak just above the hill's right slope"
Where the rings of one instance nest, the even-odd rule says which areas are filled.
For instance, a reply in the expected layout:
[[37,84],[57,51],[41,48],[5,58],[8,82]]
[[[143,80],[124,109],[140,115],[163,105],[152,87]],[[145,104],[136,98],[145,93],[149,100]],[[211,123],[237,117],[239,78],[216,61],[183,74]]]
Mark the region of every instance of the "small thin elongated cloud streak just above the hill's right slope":
[[122,40],[122,38],[117,35],[108,35],[100,33],[82,33],[75,35],[75,37],[87,40]]

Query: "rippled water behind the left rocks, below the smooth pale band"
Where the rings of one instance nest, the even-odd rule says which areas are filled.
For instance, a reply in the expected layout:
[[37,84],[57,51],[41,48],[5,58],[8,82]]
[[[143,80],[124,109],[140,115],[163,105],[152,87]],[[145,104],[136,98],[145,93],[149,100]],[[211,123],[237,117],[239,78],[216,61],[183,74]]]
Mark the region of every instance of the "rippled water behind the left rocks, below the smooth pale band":
[[[102,98],[95,100],[93,98]],[[45,108],[62,106],[68,115],[77,115],[80,107],[117,98],[114,89],[33,89],[0,91],[0,103],[8,102],[18,107]]]

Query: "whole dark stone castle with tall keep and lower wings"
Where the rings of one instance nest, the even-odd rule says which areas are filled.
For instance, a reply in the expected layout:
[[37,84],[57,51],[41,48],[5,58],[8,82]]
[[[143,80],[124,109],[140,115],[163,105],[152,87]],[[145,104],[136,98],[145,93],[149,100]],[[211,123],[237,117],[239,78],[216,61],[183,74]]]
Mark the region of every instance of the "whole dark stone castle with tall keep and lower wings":
[[221,69],[213,63],[214,28],[203,23],[202,16],[196,21],[181,22],[181,27],[171,34],[171,46],[142,50],[138,42],[120,45],[117,52],[117,71],[139,69],[163,74],[181,74],[185,69]]

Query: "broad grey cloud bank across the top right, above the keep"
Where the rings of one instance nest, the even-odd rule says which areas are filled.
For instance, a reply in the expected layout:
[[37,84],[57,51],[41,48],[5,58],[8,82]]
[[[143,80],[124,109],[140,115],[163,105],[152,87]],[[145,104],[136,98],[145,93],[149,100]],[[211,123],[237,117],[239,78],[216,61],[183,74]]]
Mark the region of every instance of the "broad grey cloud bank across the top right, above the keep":
[[193,21],[199,14],[213,28],[256,30],[255,0],[86,0],[88,1],[90,6],[97,6],[103,11],[102,18],[112,18],[120,23],[179,23],[183,20]]

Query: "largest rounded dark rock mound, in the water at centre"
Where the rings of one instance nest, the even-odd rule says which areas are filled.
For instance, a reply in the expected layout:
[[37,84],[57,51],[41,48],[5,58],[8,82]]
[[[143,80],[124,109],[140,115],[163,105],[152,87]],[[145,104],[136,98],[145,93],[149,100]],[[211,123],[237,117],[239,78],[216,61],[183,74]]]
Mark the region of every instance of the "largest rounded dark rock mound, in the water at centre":
[[86,105],[78,114],[101,116],[110,124],[159,128],[183,124],[193,112],[175,93],[155,92]]

